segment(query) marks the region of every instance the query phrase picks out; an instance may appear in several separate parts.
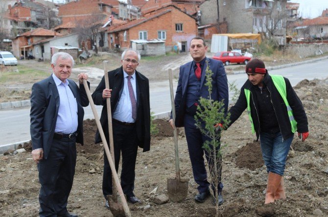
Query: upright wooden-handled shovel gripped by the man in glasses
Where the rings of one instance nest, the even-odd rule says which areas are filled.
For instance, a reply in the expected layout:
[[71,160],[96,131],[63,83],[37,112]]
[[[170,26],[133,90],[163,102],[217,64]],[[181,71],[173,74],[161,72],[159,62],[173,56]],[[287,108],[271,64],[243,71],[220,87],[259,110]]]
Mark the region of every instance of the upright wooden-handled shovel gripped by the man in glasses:
[[[105,87],[109,87],[108,71],[109,71],[109,61],[103,61],[104,64],[104,78],[105,78]],[[109,133],[109,147],[112,159],[114,159],[115,166],[115,155],[114,155],[114,138],[113,138],[113,122],[112,122],[112,109],[111,109],[111,99],[106,99],[107,104],[107,117],[108,117],[108,133]],[[109,209],[111,210],[114,217],[124,217],[124,209],[122,202],[117,200],[117,187],[112,176],[112,191],[113,195],[107,195]]]

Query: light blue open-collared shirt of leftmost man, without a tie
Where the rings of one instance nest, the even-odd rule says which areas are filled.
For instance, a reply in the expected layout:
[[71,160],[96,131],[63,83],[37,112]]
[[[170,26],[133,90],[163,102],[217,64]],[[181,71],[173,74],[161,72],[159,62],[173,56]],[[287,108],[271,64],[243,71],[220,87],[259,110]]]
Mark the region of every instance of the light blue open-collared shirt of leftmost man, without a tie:
[[69,81],[66,79],[63,83],[54,74],[52,74],[59,93],[59,109],[55,132],[70,134],[77,130],[77,102],[69,87]]

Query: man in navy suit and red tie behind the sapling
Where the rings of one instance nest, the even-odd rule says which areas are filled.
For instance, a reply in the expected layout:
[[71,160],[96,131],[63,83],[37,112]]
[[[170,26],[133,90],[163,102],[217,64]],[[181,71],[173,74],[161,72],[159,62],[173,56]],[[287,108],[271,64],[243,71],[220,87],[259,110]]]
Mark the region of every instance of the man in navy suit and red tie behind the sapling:
[[[206,67],[209,65],[212,75],[212,93],[211,99],[225,103],[225,111],[228,108],[228,81],[224,66],[221,61],[209,59],[206,57],[207,46],[201,37],[195,37],[190,41],[190,55],[193,61],[180,67],[179,81],[175,95],[176,119],[175,126],[185,127],[189,157],[192,166],[192,173],[196,183],[198,194],[195,196],[196,202],[204,202],[210,195],[210,183],[207,180],[207,172],[204,163],[204,153],[209,162],[209,154],[204,150],[203,144],[210,138],[203,135],[195,126],[194,116],[196,114],[199,98],[208,98],[209,91],[206,83]],[[169,120],[172,127],[173,120]],[[221,176],[218,177],[218,203],[223,203]],[[216,201],[216,199],[215,199]]]

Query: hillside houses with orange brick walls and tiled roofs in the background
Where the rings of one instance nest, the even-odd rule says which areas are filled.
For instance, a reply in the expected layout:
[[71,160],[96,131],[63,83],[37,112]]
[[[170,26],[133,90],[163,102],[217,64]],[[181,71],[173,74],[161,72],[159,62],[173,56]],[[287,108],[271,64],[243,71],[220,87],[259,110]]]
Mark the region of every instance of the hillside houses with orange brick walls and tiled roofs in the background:
[[[81,49],[128,47],[152,56],[187,52],[195,36],[211,44],[213,34],[226,33],[260,34],[280,46],[326,42],[328,10],[304,19],[299,6],[289,0],[1,0],[0,50],[40,60],[58,51],[77,58]],[[245,44],[230,41],[226,49],[243,52]]]

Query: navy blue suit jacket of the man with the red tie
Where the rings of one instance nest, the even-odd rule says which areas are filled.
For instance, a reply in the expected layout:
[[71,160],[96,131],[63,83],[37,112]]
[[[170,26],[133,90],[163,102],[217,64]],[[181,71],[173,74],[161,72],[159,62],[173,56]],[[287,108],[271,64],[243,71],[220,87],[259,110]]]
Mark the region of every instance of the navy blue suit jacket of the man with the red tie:
[[[221,101],[223,99],[225,103],[225,111],[227,111],[229,103],[229,89],[227,74],[222,64],[222,61],[206,58],[205,65],[202,70],[200,87],[201,97],[207,98],[209,96],[208,87],[204,85],[207,61],[209,62],[210,69],[213,72],[211,98],[217,101]],[[176,112],[175,126],[177,127],[184,126],[187,86],[190,73],[195,73],[192,67],[192,61],[180,66],[179,81],[174,99]]]

